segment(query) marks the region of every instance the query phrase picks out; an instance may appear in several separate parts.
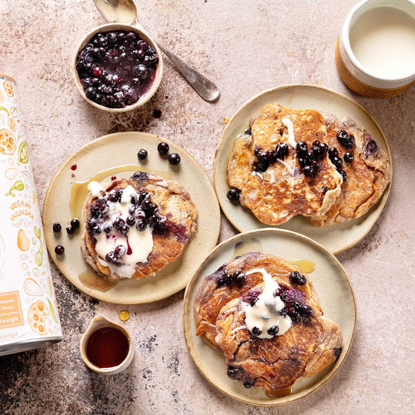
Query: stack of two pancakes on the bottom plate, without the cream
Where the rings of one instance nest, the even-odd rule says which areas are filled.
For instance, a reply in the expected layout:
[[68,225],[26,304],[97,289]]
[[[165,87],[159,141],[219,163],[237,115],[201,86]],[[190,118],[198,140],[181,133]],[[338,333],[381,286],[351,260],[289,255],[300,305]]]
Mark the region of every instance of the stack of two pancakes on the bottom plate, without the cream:
[[[255,337],[245,324],[244,306],[250,297],[264,289],[263,276],[248,271],[261,268],[280,287],[297,296],[299,304],[311,313],[293,319],[293,326],[283,335],[270,339]],[[196,334],[203,335],[213,347],[223,351],[228,362],[228,376],[245,387],[261,387],[278,395],[301,376],[313,376],[332,362],[341,350],[339,327],[323,317],[317,294],[308,275],[306,284],[296,284],[290,277],[298,266],[274,255],[249,252],[223,264],[205,277],[194,299]],[[241,282],[223,278],[240,275]],[[295,304],[295,303],[294,303]],[[287,306],[287,303],[286,303]]]

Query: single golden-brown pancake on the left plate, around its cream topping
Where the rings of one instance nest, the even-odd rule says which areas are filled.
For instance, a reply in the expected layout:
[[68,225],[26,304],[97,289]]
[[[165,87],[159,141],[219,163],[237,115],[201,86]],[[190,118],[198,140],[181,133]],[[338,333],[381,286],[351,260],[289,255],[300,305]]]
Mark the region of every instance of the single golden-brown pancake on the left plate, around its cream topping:
[[[196,230],[196,207],[190,195],[180,183],[164,179],[153,173],[137,172],[129,179],[112,181],[105,188],[104,194],[98,198],[89,192],[84,201],[84,231],[82,233],[81,251],[85,261],[98,275],[107,279],[123,278],[117,273],[117,263],[112,268],[106,266],[105,258],[100,258],[95,250],[96,239],[93,234],[89,219],[93,217],[92,210],[99,205],[98,199],[106,199],[109,193],[123,190],[131,185],[137,194],[147,192],[151,202],[158,207],[156,216],[163,219],[163,227],[154,225],[152,231],[153,248],[147,257],[147,261],[138,262],[135,265],[133,279],[154,275],[172,261],[176,261],[181,255],[192,232]],[[108,203],[108,199],[106,199]],[[139,203],[138,203],[139,204]],[[147,216],[149,216],[147,214]],[[99,216],[100,221],[102,215]],[[148,217],[145,221],[149,221]],[[101,232],[103,232],[101,230]],[[114,231],[118,232],[118,231]],[[122,261],[120,261],[122,266]],[[115,269],[115,270],[114,270]]]

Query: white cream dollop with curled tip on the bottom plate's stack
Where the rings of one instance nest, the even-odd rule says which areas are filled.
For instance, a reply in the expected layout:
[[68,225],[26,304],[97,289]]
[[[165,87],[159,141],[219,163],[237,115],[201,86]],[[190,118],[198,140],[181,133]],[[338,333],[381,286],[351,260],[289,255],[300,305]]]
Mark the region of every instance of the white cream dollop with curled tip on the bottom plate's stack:
[[[285,304],[281,297],[274,297],[273,293],[279,284],[273,279],[273,277],[264,270],[264,268],[255,268],[248,271],[246,275],[261,273],[264,278],[264,290],[258,296],[258,300],[254,306],[250,306],[249,303],[243,302],[243,311],[245,312],[245,324],[247,329],[252,333],[254,327],[258,327],[262,333],[257,336],[261,339],[273,338],[273,335],[267,333],[268,329],[273,326],[278,326],[279,331],[276,335],[283,335],[288,329],[293,326],[289,315],[277,314],[281,311]],[[275,304],[274,304],[275,302]],[[266,303],[268,305],[266,305]]]

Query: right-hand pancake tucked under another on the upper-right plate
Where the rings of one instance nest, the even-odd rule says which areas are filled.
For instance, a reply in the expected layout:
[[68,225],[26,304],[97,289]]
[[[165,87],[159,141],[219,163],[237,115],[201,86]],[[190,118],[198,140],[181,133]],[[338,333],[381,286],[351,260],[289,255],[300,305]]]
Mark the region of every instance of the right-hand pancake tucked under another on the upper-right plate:
[[378,202],[391,180],[391,164],[370,133],[347,117],[340,121],[322,113],[327,127],[329,158],[344,178],[342,191],[317,226],[358,218]]

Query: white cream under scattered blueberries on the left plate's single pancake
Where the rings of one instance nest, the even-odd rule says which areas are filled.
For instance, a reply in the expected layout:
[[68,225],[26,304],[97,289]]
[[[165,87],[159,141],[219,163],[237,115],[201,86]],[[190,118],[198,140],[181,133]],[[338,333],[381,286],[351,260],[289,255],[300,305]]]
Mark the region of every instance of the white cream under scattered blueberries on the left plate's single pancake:
[[[92,192],[92,190],[97,190],[98,186],[92,185],[92,190],[88,186],[88,189]],[[104,190],[104,187],[102,187],[102,190]],[[131,205],[132,194],[135,194],[138,198],[138,194],[134,188],[129,185],[122,190],[120,202],[108,202],[109,212],[106,214],[106,220],[100,223],[101,228],[104,223],[112,225],[117,217],[121,217],[125,221],[127,216],[130,216],[128,208]],[[110,234],[106,234],[102,231],[100,234],[94,235],[97,241],[95,244],[95,251],[98,254],[100,263],[103,266],[107,266],[112,273],[116,273],[122,278],[133,277],[136,272],[136,264],[147,262],[147,257],[153,250],[153,228],[147,226],[147,229],[142,232],[137,230],[135,226],[130,226],[129,228],[130,230],[126,235],[115,228],[112,228]],[[105,260],[105,257],[118,245],[124,246],[125,252],[120,256],[119,264],[111,264]],[[128,251],[129,247],[131,248],[131,252]]]

